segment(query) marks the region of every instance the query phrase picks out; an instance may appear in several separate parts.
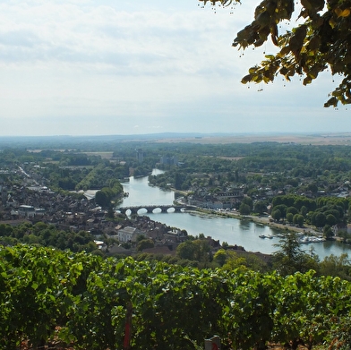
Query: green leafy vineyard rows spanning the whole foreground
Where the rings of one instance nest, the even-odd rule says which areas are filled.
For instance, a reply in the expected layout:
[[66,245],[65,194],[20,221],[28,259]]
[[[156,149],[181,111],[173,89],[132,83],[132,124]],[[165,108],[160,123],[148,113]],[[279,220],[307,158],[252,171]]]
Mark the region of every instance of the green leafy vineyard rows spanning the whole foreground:
[[280,277],[18,245],[0,250],[0,274],[6,350],[196,350],[213,335],[223,349],[351,342],[351,284],[313,271]]

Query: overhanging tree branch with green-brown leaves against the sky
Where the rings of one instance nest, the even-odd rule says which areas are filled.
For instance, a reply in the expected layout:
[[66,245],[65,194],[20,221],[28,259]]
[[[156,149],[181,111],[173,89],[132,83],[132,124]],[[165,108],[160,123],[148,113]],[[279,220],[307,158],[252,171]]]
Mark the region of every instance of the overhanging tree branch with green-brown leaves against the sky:
[[[200,0],[205,4],[208,0]],[[211,4],[229,5],[239,0],[212,0]],[[295,21],[299,19],[299,21]],[[296,23],[281,30],[287,21]],[[261,47],[269,38],[277,47],[275,55],[265,55],[261,64],[249,69],[242,79],[266,83],[278,74],[287,81],[299,75],[304,85],[323,71],[343,77],[331,92],[324,107],[351,103],[351,3],[349,0],[262,0],[254,18],[240,30],[233,47]]]

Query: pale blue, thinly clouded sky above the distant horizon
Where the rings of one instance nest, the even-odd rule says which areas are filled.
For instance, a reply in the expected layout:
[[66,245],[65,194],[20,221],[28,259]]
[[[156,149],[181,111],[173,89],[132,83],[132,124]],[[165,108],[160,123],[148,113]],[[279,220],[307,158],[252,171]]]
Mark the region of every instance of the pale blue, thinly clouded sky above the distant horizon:
[[[335,78],[242,84],[254,0],[0,0],[0,136],[349,132]],[[333,82],[334,81],[334,82]]]

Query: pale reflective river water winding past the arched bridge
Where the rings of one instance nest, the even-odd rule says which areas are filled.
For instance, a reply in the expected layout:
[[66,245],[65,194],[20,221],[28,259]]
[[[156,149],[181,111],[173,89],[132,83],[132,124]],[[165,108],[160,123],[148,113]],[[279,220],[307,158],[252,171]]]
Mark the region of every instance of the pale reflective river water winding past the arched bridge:
[[[154,170],[152,175],[161,173]],[[162,191],[158,187],[149,185],[148,177],[130,178],[128,183],[123,183],[124,192],[129,192],[129,196],[124,198],[121,207],[140,206],[140,205],[169,205],[175,200],[175,192]],[[189,235],[203,234],[210,235],[220,243],[237,244],[244,247],[246,251],[262,252],[270,254],[277,251],[274,244],[279,243],[279,238],[275,235],[277,230],[270,226],[263,226],[253,223],[250,220],[237,218],[221,218],[216,216],[193,215],[190,213],[161,213],[156,212],[146,214],[142,209],[140,215],[148,215],[152,220],[185,229]],[[273,235],[274,238],[260,238],[259,235]],[[339,242],[307,243],[302,246],[306,251],[313,248],[314,252],[320,257],[334,254],[339,256],[343,252],[351,253],[350,248]]]

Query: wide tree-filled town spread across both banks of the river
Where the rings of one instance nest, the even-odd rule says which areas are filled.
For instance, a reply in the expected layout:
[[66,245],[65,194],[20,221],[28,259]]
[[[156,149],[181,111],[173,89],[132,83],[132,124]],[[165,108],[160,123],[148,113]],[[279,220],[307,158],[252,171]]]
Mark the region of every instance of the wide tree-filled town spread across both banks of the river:
[[[137,215],[136,209],[129,215],[118,210],[128,196],[118,180],[150,175],[157,166],[162,172],[149,176],[150,185],[179,193],[170,203],[175,210],[250,216],[285,230],[308,228],[324,239],[349,240],[351,166],[344,146],[124,142],[108,149],[97,143],[95,151],[74,144],[71,149],[35,146],[0,152],[1,225],[44,223],[81,233],[84,242],[89,234],[94,242],[89,251],[175,255],[179,244],[193,238],[186,230]],[[30,232],[24,242],[40,243]],[[221,248],[217,240],[202,238],[212,254]],[[72,239],[61,240],[61,249],[83,249],[80,243],[74,247]]]

